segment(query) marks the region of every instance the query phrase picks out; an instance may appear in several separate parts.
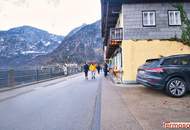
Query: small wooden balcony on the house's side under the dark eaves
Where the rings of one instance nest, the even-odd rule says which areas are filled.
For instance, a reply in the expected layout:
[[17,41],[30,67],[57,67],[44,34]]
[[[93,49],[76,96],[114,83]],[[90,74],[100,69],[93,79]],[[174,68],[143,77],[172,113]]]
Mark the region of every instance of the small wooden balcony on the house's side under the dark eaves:
[[120,45],[123,40],[123,28],[110,29],[110,41],[111,46]]

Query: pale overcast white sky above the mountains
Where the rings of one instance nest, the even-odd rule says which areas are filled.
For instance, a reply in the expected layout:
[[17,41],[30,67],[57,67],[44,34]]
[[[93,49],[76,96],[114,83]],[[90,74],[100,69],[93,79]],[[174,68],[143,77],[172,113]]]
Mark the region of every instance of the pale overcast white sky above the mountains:
[[100,16],[100,0],[0,0],[0,30],[30,25],[66,35]]

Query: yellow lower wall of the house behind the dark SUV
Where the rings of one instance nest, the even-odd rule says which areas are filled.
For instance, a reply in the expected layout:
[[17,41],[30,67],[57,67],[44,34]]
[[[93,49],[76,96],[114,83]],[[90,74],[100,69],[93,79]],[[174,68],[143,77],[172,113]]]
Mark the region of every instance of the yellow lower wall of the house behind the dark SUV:
[[146,59],[175,54],[190,54],[190,47],[176,41],[125,40],[122,42],[123,80],[136,80],[137,68]]

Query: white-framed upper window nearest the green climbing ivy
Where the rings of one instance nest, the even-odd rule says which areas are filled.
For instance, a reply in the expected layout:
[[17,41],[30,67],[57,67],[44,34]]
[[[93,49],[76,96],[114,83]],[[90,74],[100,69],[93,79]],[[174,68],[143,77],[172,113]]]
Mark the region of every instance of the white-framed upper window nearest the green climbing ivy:
[[180,11],[168,11],[169,25],[181,25]]

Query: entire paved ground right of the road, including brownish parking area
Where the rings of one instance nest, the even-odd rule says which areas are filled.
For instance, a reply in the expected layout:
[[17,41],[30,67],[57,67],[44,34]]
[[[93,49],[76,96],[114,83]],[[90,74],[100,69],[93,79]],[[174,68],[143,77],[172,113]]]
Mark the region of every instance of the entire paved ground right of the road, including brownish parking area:
[[143,85],[116,86],[109,80],[103,80],[101,93],[101,130],[170,130],[165,122],[190,122],[190,93],[173,98]]

